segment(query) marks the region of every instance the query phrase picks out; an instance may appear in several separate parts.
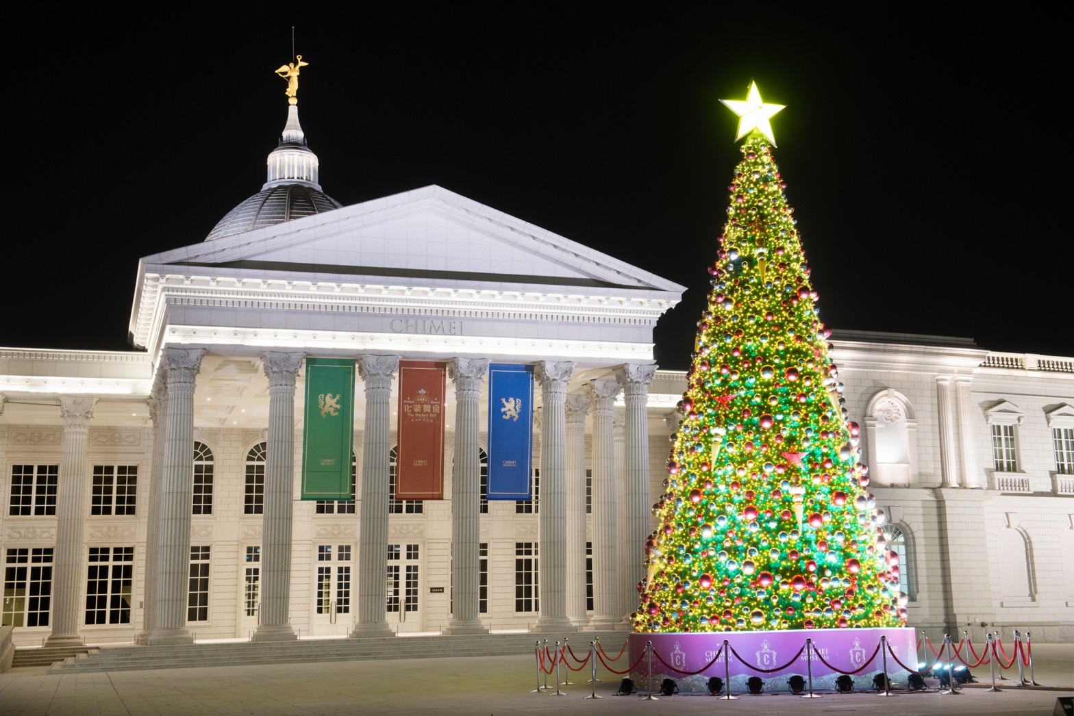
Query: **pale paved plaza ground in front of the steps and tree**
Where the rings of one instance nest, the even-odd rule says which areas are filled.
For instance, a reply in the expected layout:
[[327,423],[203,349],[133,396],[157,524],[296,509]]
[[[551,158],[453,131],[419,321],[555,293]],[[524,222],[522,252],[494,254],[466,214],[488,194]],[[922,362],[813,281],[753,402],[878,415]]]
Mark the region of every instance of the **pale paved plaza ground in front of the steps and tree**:
[[[614,696],[620,675],[604,666],[595,684],[590,668],[570,672],[555,695],[539,682],[533,654],[519,656],[335,661],[311,663],[159,669],[49,674],[45,667],[0,673],[0,715],[87,716],[120,714],[270,715],[396,714],[429,716],[511,716],[519,714],[884,714],[885,716],[985,716],[1051,714],[1057,697],[1074,697],[1074,644],[1033,643],[1033,677],[1041,686],[1015,686],[1017,668],[988,691],[988,671],[974,670],[981,683],[959,695],[938,691],[823,692],[802,699],[787,691],[730,701],[679,693],[659,700]],[[1028,671],[1026,676],[1029,676]],[[601,699],[586,699],[596,693]]]

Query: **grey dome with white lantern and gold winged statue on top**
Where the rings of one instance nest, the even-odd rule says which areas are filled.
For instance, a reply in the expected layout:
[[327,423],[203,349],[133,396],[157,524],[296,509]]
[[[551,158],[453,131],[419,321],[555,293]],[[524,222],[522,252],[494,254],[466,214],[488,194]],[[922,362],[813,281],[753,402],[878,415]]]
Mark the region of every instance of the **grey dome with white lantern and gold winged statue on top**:
[[212,242],[271,227],[291,219],[323,214],[343,206],[321,190],[319,162],[306,145],[306,134],[299,123],[299,70],[309,62],[295,55],[276,74],[287,79],[287,123],[279,144],[268,152],[267,174],[261,191],[231,209],[205,237]]

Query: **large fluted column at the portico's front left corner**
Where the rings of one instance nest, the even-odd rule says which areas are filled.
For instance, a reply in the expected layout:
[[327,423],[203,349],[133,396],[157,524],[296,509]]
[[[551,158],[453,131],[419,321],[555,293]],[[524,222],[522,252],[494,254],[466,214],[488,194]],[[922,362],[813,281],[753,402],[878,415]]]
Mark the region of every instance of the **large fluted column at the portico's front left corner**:
[[194,376],[203,351],[165,348],[160,356],[168,386],[163,467],[154,583],[156,624],[145,644],[190,644],[187,591],[190,579],[190,503],[194,473]]

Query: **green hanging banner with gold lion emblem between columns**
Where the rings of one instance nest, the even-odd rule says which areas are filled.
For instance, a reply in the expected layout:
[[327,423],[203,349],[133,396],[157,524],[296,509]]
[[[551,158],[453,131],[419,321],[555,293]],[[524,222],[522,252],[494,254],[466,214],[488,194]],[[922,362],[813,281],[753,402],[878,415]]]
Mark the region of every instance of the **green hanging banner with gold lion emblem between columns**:
[[354,361],[306,359],[302,499],[348,500],[354,433]]

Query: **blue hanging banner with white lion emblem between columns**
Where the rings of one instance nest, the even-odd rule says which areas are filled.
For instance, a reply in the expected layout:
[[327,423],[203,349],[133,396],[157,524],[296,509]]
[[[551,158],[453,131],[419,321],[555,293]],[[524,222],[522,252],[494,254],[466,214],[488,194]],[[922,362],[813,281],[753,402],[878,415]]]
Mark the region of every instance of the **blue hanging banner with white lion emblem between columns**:
[[534,368],[489,366],[489,489],[491,500],[532,498]]

